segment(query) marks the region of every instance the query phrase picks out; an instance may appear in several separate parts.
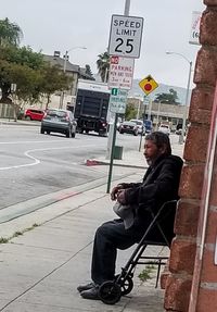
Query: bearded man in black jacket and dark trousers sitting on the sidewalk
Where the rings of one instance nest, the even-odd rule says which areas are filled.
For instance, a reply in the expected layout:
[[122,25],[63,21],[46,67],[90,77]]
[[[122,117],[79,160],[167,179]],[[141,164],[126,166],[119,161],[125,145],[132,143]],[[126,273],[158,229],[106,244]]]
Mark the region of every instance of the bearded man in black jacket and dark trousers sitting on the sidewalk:
[[[124,220],[118,219],[97,229],[91,265],[92,283],[77,288],[85,299],[99,299],[99,286],[114,279],[117,249],[127,249],[142,238],[152,221],[150,210],[156,213],[164,202],[178,199],[183,162],[179,157],[171,155],[169,137],[161,132],[146,135],[143,154],[149,164],[143,180],[119,184],[111,194],[112,200],[131,207],[131,226],[126,226]],[[165,223],[169,221],[166,219]],[[173,224],[169,225],[173,227]],[[153,234],[151,239],[154,241],[157,238]]]

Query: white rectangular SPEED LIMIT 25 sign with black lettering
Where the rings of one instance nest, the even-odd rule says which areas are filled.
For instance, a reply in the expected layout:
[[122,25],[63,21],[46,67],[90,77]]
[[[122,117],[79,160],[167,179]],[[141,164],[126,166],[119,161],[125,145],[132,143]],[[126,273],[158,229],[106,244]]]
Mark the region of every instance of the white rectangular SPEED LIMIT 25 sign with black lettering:
[[143,17],[112,15],[108,53],[139,59]]

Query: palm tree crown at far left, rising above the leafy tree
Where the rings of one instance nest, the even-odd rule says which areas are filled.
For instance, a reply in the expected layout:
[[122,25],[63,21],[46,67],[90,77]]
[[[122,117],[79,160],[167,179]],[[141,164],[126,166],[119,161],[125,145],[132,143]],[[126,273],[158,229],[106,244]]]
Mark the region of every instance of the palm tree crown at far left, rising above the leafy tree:
[[18,25],[11,23],[8,17],[0,20],[0,47],[18,46],[22,38],[23,32]]

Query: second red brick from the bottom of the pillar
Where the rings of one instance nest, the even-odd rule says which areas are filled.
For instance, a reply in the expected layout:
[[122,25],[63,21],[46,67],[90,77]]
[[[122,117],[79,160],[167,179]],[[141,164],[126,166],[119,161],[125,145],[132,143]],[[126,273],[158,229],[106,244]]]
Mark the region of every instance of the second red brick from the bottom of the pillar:
[[196,244],[176,237],[171,244],[169,271],[171,273],[186,272],[192,275],[194,269]]

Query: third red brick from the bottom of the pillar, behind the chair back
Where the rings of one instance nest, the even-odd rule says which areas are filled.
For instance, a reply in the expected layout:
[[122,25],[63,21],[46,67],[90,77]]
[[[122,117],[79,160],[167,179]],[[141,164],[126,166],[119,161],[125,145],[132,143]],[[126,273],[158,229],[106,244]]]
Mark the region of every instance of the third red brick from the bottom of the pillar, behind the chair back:
[[196,237],[199,213],[200,203],[180,200],[176,213],[175,233],[177,235]]

